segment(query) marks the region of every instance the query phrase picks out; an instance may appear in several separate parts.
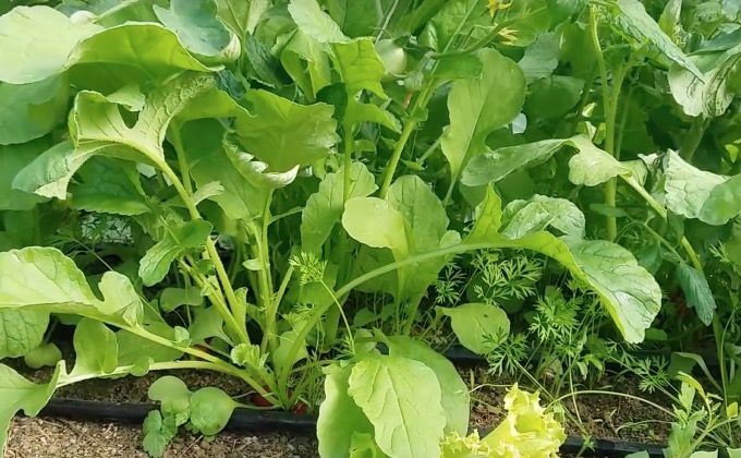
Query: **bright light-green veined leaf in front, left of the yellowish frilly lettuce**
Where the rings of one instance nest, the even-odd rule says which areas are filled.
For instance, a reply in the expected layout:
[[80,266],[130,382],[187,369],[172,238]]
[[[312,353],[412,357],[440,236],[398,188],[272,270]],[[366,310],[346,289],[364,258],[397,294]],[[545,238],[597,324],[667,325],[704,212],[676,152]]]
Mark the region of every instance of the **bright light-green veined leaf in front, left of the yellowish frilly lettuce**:
[[352,369],[348,393],[386,455],[439,458],[446,413],[432,369],[408,358],[367,358]]

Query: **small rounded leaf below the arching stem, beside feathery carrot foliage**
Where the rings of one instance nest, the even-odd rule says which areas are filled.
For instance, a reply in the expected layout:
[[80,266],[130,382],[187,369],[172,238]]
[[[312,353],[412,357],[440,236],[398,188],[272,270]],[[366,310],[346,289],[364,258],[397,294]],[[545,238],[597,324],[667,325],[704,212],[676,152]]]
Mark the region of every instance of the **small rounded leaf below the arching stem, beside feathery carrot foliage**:
[[462,304],[455,308],[438,308],[450,317],[450,326],[463,347],[477,354],[487,354],[509,334],[507,312],[485,303]]

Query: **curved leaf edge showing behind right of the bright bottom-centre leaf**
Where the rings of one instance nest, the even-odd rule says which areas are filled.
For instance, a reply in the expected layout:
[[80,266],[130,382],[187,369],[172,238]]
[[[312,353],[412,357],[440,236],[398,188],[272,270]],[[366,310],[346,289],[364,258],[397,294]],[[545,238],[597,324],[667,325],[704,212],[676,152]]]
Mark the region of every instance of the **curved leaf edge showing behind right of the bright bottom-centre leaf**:
[[427,345],[408,336],[391,336],[388,341],[390,355],[420,361],[435,371],[442,393],[442,408],[447,418],[446,433],[455,431],[464,436],[469,431],[471,397],[469,387],[453,363]]

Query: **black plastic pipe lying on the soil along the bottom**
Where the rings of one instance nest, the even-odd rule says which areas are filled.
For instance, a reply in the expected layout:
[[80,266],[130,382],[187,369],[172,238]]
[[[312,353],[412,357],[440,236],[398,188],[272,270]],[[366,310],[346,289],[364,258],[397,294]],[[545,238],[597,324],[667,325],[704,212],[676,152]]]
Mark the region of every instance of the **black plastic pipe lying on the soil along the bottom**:
[[[54,398],[41,410],[39,417],[96,423],[142,424],[147,414],[158,408],[154,403]],[[227,424],[227,430],[236,434],[275,431],[313,434],[316,432],[316,417],[311,414],[235,410]],[[479,434],[483,437],[491,429],[479,429]],[[591,446],[585,446],[580,437],[568,437],[560,451],[564,455],[581,453],[584,457],[598,458],[622,458],[636,451],[646,451],[651,458],[664,458],[661,447],[658,445],[592,439]]]

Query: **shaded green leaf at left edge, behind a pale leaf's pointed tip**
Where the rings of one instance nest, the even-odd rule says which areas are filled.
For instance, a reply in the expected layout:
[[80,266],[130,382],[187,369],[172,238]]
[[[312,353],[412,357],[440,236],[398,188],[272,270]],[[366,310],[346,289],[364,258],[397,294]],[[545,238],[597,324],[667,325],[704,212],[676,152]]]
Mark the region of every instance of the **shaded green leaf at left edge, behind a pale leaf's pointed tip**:
[[46,200],[13,189],[13,180],[48,147],[49,142],[44,138],[21,145],[0,145],[0,210],[27,210]]

